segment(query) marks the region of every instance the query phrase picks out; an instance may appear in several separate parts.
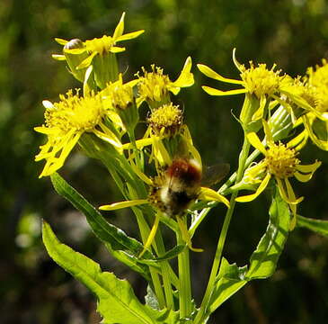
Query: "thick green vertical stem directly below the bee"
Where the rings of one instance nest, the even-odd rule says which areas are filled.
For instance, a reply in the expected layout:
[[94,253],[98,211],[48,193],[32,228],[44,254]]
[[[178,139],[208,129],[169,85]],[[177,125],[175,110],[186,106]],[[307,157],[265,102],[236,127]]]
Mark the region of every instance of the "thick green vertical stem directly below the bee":
[[[185,217],[183,221],[186,221]],[[177,232],[177,244],[185,244],[182,238],[182,231]],[[191,268],[189,259],[189,248],[186,247],[178,256],[179,268],[179,306],[180,318],[188,319],[191,317]]]

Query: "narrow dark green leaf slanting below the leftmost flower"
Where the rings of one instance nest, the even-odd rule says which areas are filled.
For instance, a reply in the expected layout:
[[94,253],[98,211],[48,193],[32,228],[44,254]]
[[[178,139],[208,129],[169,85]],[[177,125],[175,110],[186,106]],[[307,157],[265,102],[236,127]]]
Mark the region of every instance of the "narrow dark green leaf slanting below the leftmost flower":
[[[137,255],[144,249],[144,246],[137,239],[129,238],[123,230],[107,222],[102,217],[102,214],[91,203],[87,202],[80,193],[77,193],[71,185],[67,184],[60,175],[57,173],[51,175],[51,181],[58,194],[71,202],[76,209],[84,213],[94,234],[104,242],[112,256],[140,275],[143,275],[149,281],[148,267],[140,264],[137,258]],[[145,257],[154,259],[153,255],[148,251],[146,251]]]

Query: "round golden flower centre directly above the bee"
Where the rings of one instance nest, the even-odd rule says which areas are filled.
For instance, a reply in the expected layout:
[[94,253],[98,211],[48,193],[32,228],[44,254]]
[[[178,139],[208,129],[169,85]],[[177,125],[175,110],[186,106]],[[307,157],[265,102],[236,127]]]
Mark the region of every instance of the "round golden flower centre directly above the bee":
[[165,135],[173,136],[181,129],[182,110],[173,103],[164,104],[150,114],[147,122],[155,134],[164,129]]

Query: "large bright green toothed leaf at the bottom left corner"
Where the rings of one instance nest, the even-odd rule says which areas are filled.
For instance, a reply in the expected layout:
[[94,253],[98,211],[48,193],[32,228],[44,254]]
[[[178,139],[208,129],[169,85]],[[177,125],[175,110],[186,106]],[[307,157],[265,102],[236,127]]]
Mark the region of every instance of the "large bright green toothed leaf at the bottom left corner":
[[164,313],[160,314],[141,304],[126,280],[120,280],[112,273],[102,272],[101,267],[93,260],[60,243],[46,222],[43,222],[42,237],[49,256],[98,297],[102,323],[160,323],[155,320],[154,315],[159,318]]

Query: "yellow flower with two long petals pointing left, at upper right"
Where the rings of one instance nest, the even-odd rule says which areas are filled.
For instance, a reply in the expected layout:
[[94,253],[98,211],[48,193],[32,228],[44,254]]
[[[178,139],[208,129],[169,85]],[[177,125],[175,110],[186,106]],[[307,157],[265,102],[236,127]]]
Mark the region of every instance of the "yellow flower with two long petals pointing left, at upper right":
[[240,71],[241,80],[235,80],[220,76],[217,72],[212,70],[203,64],[198,64],[199,71],[205,76],[216,79],[218,81],[226,82],[228,84],[241,85],[242,88],[221,91],[210,86],[203,85],[202,88],[210,95],[230,95],[230,94],[251,94],[254,95],[259,101],[259,108],[253,112],[252,120],[257,121],[262,119],[264,108],[268,103],[269,98],[276,99],[279,95],[280,87],[283,85],[285,76],[279,76],[280,70],[274,71],[276,65],[273,65],[270,69],[266,67],[266,64],[258,64],[254,66],[253,62],[250,62],[250,67],[246,68],[244,65],[237,62],[235,58],[235,49],[233,51],[233,60],[235,67]]

